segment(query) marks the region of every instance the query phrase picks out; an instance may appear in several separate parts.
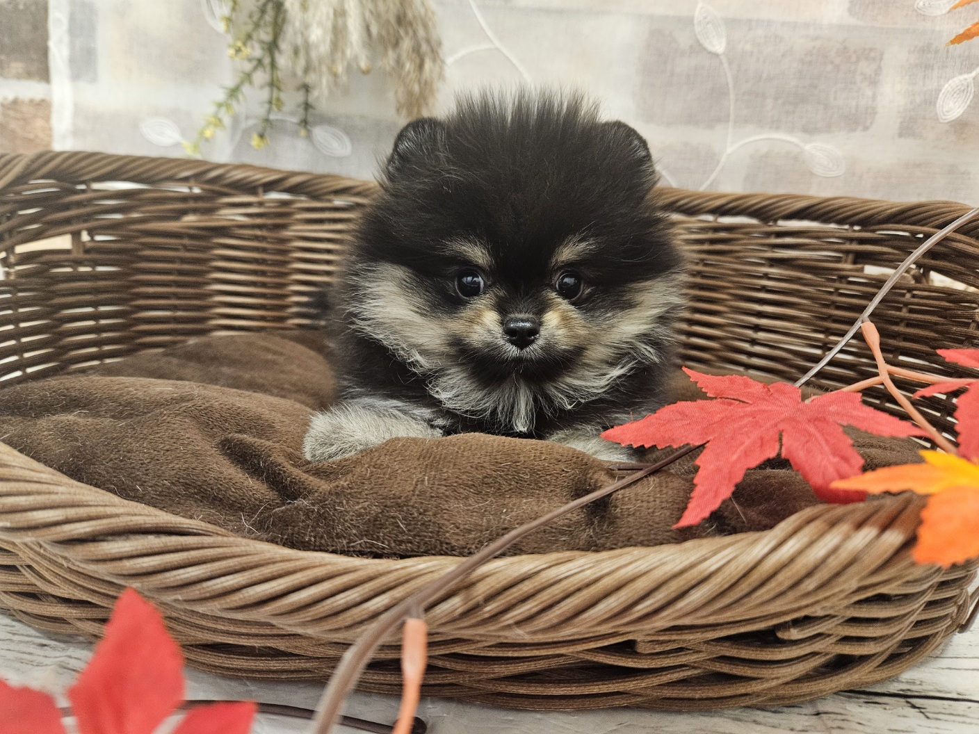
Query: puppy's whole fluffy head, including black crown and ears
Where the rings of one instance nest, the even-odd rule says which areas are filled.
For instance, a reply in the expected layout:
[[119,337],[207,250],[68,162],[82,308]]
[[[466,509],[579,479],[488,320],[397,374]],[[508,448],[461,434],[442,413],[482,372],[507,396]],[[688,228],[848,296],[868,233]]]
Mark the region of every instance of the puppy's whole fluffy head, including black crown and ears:
[[662,358],[678,257],[631,128],[536,110],[493,138],[500,111],[469,112],[399,135],[350,256],[347,314],[449,409],[523,433],[536,411]]

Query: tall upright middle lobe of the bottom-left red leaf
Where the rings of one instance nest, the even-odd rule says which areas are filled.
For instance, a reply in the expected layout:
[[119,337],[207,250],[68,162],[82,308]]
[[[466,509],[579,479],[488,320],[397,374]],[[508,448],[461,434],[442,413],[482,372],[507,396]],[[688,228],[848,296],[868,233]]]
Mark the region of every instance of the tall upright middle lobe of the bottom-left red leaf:
[[160,613],[126,589],[69,691],[80,734],[152,734],[183,694],[180,648]]

